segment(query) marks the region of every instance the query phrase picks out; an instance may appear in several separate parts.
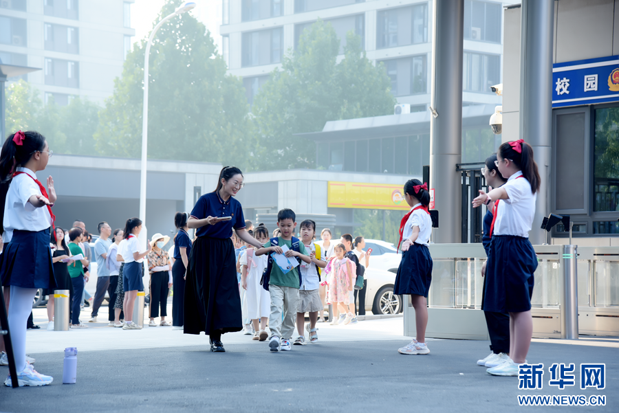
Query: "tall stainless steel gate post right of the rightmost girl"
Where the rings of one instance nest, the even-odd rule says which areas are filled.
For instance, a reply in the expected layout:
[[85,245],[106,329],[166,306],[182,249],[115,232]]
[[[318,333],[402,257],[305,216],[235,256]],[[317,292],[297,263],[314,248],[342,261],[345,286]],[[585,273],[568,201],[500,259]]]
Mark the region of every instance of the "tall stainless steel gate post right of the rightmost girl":
[[578,339],[578,246],[563,245],[561,338]]

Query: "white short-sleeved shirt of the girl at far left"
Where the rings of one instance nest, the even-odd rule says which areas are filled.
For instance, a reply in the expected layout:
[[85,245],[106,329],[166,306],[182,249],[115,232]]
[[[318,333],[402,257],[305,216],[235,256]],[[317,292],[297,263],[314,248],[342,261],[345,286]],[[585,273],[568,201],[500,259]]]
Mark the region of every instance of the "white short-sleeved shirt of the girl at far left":
[[[4,234],[3,242],[9,243],[13,238],[14,230],[39,232],[52,226],[52,216],[47,207],[35,208],[28,202],[32,195],[41,195],[39,186],[34,182],[36,175],[27,168],[17,168],[19,174],[10,183],[4,203]],[[34,178],[34,179],[32,179]]]

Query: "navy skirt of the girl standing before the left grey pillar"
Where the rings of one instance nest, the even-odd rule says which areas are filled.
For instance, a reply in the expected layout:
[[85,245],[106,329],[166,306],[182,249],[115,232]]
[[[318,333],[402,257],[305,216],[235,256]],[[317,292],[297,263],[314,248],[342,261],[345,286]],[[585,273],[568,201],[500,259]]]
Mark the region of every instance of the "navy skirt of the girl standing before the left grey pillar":
[[415,294],[428,297],[432,281],[432,257],[425,245],[413,243],[406,252],[395,276],[394,294]]

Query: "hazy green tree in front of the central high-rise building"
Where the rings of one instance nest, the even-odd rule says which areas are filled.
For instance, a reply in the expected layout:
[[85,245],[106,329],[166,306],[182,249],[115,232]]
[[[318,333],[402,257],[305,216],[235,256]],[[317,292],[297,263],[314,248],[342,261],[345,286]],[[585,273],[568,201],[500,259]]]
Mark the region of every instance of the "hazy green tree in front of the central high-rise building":
[[386,115],[395,98],[391,82],[361,49],[359,36],[347,34],[344,59],[331,23],[316,21],[301,34],[297,49],[284,56],[252,107],[256,146],[250,158],[258,170],[314,168],[314,142],[295,133],[321,131],[329,120]]

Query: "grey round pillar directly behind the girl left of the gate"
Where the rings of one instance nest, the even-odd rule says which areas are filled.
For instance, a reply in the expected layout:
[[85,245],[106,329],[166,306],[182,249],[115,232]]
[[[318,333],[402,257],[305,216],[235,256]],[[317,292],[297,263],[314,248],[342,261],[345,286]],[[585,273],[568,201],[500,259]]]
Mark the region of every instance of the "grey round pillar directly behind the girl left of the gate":
[[430,121],[430,188],[440,227],[435,243],[459,243],[461,178],[456,164],[462,147],[462,47],[464,0],[434,1]]

